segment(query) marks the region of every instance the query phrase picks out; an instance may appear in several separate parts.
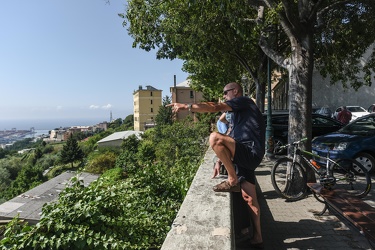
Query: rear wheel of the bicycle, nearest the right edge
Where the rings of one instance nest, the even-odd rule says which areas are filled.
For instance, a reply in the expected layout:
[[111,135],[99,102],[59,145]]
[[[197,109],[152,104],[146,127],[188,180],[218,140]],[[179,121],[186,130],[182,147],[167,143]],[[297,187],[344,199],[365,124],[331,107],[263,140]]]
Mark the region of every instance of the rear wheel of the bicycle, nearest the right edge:
[[342,188],[353,196],[363,198],[371,190],[371,177],[366,168],[353,159],[341,159],[332,163],[332,175],[336,179],[335,188]]

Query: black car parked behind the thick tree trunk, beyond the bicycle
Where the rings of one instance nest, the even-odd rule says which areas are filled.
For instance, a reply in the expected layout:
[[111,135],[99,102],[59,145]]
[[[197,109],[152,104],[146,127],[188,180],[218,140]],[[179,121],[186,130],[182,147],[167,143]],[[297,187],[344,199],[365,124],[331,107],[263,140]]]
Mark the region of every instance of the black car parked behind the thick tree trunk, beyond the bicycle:
[[[267,114],[263,114],[265,123],[267,125]],[[273,142],[274,142],[274,154],[284,154],[285,150],[280,150],[280,146],[287,144],[288,142],[288,113],[276,113],[272,114],[272,128],[273,128]],[[312,136],[328,134],[339,130],[344,125],[330,117],[312,114]]]

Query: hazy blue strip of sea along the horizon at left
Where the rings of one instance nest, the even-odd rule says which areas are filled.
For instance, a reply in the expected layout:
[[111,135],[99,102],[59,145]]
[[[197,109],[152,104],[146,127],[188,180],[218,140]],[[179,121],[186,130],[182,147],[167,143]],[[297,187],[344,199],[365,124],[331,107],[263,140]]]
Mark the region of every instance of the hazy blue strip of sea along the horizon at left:
[[72,126],[92,126],[104,122],[106,119],[100,118],[70,118],[70,119],[0,119],[0,130],[52,130],[60,127]]

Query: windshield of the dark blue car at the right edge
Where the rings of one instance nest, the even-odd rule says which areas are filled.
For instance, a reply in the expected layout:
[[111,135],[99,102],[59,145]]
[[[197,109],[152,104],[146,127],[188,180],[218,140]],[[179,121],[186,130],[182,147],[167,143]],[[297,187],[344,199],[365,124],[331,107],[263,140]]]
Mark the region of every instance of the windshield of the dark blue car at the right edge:
[[337,132],[350,135],[375,135],[375,117],[368,116],[359,119],[349,123]]

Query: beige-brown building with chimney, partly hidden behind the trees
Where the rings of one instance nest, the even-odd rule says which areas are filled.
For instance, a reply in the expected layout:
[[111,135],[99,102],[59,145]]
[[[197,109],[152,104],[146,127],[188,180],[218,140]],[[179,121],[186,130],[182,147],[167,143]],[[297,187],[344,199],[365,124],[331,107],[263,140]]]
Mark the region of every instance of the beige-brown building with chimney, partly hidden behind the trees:
[[[190,80],[175,84],[170,88],[172,103],[197,103],[203,101],[203,93],[197,92],[190,87]],[[176,114],[176,119],[181,120],[189,115],[188,110],[182,110]],[[195,117],[194,117],[195,118]]]

